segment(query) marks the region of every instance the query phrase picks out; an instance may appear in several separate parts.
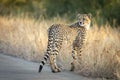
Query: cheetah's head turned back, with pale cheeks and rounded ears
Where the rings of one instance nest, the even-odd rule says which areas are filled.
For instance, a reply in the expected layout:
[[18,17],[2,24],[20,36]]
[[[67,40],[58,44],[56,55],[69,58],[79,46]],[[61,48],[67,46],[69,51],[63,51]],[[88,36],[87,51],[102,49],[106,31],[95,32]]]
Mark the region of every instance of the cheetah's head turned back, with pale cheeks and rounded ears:
[[88,30],[91,24],[91,14],[78,14],[77,18],[79,26],[85,27]]

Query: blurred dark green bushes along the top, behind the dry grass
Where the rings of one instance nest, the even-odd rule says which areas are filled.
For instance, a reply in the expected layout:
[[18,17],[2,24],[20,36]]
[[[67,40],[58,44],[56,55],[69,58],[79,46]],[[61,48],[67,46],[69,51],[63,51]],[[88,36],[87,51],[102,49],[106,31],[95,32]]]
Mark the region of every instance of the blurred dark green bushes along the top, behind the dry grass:
[[[120,25],[120,0],[1,0],[0,15],[29,14],[34,18],[43,15],[52,18],[68,15],[69,20],[77,13],[92,13],[95,18],[100,16],[101,22]],[[99,13],[99,14],[98,14]]]

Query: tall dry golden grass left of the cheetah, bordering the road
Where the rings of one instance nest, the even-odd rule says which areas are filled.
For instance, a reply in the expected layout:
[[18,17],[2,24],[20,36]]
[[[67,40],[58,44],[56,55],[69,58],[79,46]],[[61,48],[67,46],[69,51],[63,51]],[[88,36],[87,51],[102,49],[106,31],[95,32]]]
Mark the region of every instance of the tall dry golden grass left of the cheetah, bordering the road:
[[28,17],[0,17],[1,52],[37,61],[46,48],[46,26],[45,21],[39,23]]

